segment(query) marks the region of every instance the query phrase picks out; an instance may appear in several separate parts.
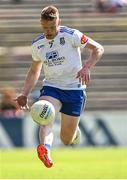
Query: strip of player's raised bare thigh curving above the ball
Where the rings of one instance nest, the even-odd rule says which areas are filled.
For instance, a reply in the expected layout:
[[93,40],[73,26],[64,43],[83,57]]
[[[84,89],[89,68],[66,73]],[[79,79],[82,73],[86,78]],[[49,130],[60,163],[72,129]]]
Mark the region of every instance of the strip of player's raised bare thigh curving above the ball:
[[52,105],[54,106],[55,108],[55,112],[58,113],[61,109],[61,102],[54,98],[54,97],[51,97],[51,96],[41,96],[39,98],[39,100],[46,100],[46,101],[49,101],[50,103],[52,103]]

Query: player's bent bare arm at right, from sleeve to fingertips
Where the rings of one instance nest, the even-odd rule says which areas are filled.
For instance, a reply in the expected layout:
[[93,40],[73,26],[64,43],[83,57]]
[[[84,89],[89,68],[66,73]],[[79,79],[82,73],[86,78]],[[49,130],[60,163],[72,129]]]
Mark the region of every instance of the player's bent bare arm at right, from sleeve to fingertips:
[[88,84],[90,82],[90,70],[101,59],[104,53],[103,46],[91,38],[88,38],[86,47],[90,49],[90,55],[83,68],[77,74],[77,78],[79,78],[82,84]]

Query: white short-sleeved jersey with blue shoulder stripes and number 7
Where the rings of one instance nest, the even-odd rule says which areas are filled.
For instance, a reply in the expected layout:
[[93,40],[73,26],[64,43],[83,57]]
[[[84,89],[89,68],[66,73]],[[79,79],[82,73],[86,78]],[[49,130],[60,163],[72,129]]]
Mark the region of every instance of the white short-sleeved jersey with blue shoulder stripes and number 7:
[[80,48],[84,48],[88,37],[76,29],[61,26],[53,40],[41,34],[32,43],[32,58],[42,61],[44,69],[43,86],[66,90],[84,89],[76,78],[82,68]]

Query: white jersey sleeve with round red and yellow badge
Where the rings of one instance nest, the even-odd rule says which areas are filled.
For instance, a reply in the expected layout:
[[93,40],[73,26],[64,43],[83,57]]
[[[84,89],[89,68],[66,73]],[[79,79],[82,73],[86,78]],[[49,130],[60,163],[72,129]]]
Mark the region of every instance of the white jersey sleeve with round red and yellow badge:
[[84,48],[88,42],[88,37],[80,32],[79,30],[75,30],[73,34],[73,43],[75,47]]

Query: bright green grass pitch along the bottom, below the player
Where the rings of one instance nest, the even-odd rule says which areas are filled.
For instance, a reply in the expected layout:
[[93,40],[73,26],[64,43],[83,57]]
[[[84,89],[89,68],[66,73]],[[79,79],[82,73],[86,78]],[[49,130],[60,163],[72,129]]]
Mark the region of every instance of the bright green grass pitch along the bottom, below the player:
[[0,179],[126,179],[127,148],[59,148],[47,169],[36,149],[0,150]]

